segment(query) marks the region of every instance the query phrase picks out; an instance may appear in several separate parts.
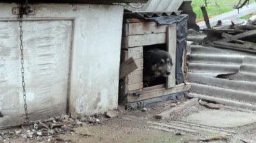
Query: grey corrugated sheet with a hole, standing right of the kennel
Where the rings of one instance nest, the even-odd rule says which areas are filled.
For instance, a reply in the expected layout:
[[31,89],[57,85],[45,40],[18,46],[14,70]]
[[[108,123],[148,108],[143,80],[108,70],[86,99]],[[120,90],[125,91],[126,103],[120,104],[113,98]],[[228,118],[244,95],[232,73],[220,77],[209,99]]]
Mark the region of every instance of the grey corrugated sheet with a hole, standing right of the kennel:
[[192,85],[189,94],[239,101],[255,107],[255,56],[248,52],[192,45],[188,55],[188,80]]

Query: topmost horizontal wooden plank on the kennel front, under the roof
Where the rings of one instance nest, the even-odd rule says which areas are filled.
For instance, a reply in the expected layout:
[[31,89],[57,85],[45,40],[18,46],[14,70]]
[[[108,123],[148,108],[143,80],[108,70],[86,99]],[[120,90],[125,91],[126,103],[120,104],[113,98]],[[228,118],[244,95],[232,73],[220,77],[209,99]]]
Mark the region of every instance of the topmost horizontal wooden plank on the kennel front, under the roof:
[[143,35],[143,34],[158,34],[166,32],[168,25],[158,25],[154,21],[126,23],[125,36]]

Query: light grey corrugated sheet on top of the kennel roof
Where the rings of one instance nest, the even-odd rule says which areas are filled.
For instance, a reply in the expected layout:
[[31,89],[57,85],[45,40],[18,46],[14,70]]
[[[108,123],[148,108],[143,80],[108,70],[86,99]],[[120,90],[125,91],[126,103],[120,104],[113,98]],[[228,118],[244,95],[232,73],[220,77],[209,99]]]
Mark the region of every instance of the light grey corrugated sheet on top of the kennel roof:
[[[156,11],[178,11],[179,7],[183,3],[183,0],[150,0],[148,3],[139,7],[140,4],[133,4],[134,7],[127,5],[125,9],[130,11],[148,11],[148,12],[156,12]],[[138,8],[135,8],[138,7]]]

